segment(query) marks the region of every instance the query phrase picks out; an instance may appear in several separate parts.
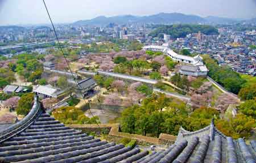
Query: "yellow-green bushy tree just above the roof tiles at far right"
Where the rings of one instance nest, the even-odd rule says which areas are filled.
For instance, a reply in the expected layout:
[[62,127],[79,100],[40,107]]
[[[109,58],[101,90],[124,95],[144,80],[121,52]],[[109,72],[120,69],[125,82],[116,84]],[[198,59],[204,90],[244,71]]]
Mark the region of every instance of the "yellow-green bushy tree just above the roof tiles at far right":
[[236,117],[229,117],[229,120],[220,119],[216,123],[216,127],[226,136],[232,136],[234,139],[248,138],[250,136],[251,128],[256,125],[255,119],[247,117],[240,113]]

